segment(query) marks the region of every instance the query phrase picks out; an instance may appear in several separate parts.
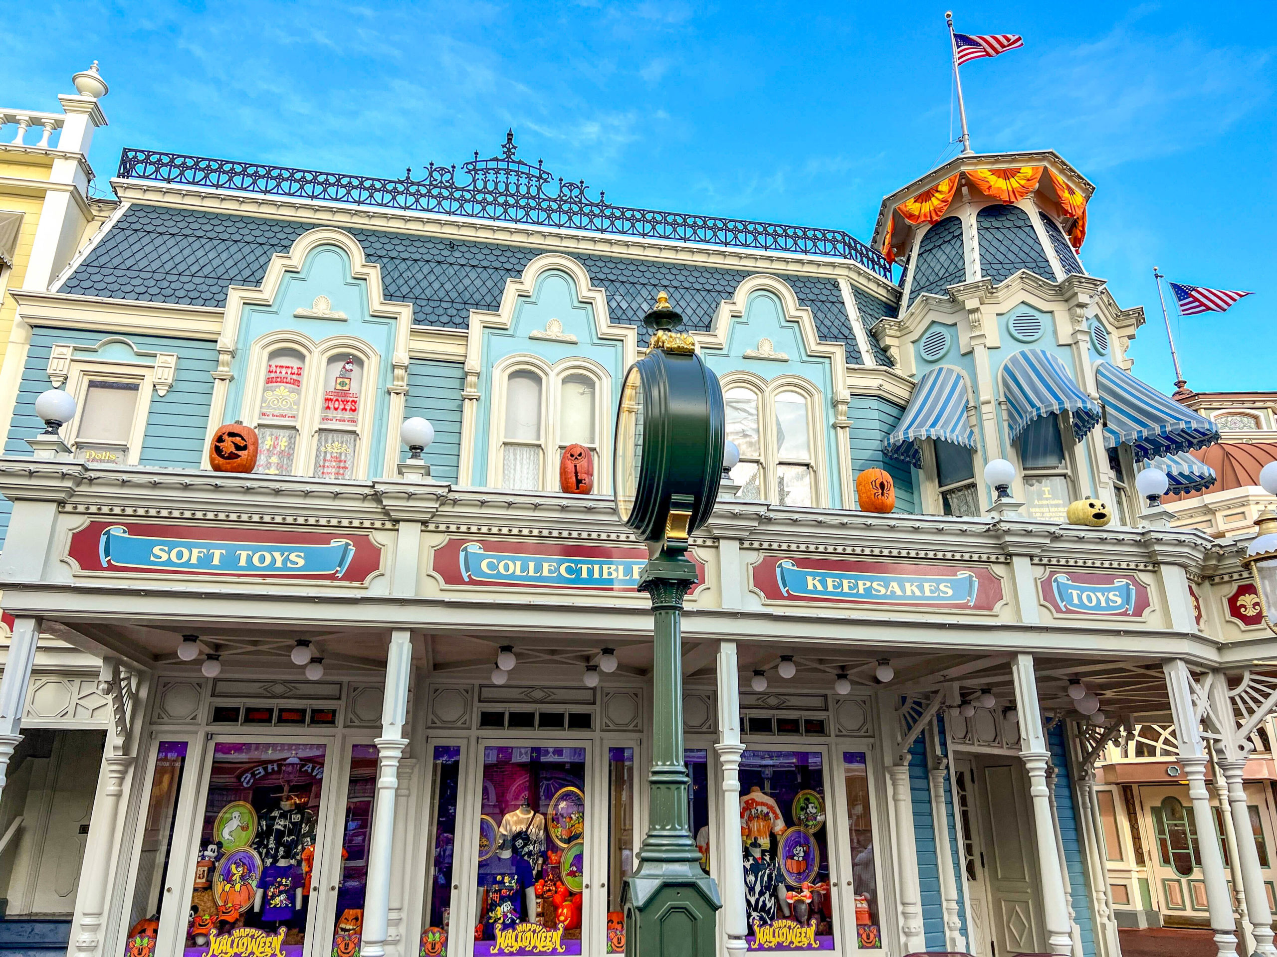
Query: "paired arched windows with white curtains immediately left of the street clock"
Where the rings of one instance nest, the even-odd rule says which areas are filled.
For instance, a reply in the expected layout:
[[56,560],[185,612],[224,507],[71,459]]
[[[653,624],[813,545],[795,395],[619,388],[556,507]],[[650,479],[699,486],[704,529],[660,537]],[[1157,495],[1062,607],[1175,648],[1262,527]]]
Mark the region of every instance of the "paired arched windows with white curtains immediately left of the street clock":
[[494,370],[498,401],[493,433],[499,436],[490,461],[493,485],[524,491],[558,490],[563,449],[585,445],[594,458],[595,491],[605,493],[600,450],[607,434],[607,376],[584,361],[549,366],[531,356],[515,357]]

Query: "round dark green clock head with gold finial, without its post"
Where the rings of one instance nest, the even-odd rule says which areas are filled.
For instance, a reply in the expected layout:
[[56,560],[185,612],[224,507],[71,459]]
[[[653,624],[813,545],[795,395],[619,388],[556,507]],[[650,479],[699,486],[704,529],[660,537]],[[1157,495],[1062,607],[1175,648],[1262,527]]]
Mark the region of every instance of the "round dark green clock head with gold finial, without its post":
[[646,542],[686,540],[714,510],[725,425],[718,376],[661,292],[647,355],[626,373],[613,436],[617,512]]

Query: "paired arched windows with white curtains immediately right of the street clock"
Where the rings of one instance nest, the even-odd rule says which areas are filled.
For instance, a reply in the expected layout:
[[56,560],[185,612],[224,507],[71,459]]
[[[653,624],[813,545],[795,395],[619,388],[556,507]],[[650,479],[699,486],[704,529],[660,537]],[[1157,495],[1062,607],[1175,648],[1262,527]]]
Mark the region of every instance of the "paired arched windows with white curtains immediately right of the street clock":
[[732,480],[738,498],[767,499],[778,505],[815,505],[820,501],[816,470],[819,426],[812,411],[815,397],[784,380],[762,385],[728,382],[723,390],[727,438],[741,452]]

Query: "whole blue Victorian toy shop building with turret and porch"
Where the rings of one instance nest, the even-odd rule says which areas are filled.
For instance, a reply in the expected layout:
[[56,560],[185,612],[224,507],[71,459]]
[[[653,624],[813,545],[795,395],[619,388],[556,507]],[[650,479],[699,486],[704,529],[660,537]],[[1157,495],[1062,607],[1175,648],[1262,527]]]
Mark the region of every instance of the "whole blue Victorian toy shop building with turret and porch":
[[[112,185],[9,290],[0,382],[0,824],[92,806],[0,878],[72,861],[68,953],[624,951],[651,647],[610,440],[663,291],[738,452],[684,618],[720,949],[1117,957],[1179,894],[1273,953],[1271,809],[1203,783],[1273,633],[1241,545],[1137,491],[1209,481],[1218,431],[1131,374],[1057,153],[950,161],[872,245],[614,205],[512,135],[401,180],[126,149]],[[1157,718],[1193,866],[1149,835],[1110,879],[1097,762]]]

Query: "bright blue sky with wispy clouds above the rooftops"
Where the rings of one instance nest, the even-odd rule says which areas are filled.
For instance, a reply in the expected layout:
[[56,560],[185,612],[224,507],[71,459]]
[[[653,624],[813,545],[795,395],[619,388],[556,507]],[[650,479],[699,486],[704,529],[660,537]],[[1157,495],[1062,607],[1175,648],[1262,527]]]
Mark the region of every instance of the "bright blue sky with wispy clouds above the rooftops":
[[[100,60],[123,145],[398,176],[508,126],[626,205],[842,227],[948,156],[944,4],[6,5],[4,106],[56,108]],[[1143,305],[1137,371],[1171,387],[1151,271],[1255,290],[1177,320],[1189,385],[1277,389],[1277,14],[1259,3],[968,4],[1025,48],[963,68],[974,148],[1051,147],[1097,186],[1087,268]],[[1174,308],[1172,308],[1174,313]]]

